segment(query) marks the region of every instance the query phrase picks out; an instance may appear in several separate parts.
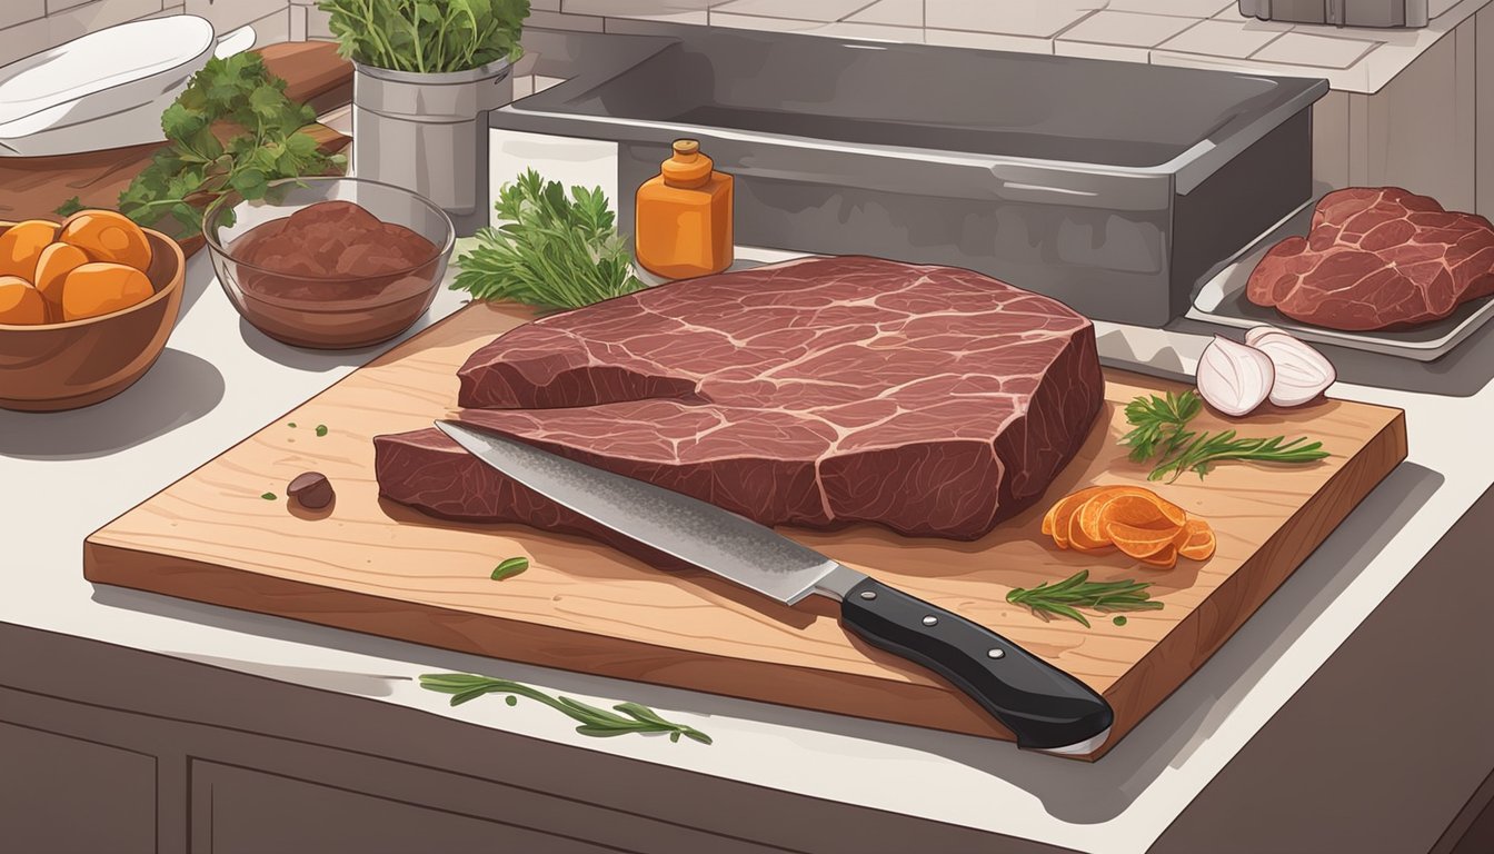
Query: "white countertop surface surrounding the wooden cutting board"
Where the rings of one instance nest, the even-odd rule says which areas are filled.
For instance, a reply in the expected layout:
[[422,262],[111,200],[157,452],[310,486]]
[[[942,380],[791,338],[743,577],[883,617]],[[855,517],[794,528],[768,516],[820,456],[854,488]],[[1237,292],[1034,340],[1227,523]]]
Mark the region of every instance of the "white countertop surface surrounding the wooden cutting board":
[[[610,144],[496,132],[495,178],[535,166],[601,184]],[[744,253],[762,260],[781,253]],[[423,325],[460,307],[442,290]],[[241,325],[206,256],[157,366],[123,396],[73,413],[0,411],[0,621],[196,658],[287,682],[892,812],[1083,851],[1144,851],[1415,562],[1494,482],[1494,383],[1443,398],[1340,384],[1334,396],[1403,407],[1410,459],[1192,679],[1098,763],[1010,743],[517,666],[151,594],[94,588],[82,540],[109,519],[314,396],[375,351],[308,353]],[[420,673],[462,670],[589,700],[636,700],[714,737],[589,739],[524,703],[447,706]],[[400,679],[387,679],[394,676]]]

